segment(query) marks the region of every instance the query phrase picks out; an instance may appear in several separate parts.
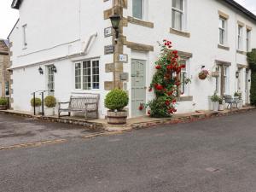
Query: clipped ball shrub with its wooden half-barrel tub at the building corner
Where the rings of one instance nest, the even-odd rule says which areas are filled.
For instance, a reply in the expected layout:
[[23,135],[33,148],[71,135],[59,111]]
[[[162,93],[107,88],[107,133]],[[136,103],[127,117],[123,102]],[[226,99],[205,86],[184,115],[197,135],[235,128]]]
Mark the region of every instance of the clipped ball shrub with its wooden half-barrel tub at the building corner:
[[108,124],[123,125],[128,116],[124,108],[128,105],[129,97],[125,90],[111,90],[105,98],[105,107],[108,108]]

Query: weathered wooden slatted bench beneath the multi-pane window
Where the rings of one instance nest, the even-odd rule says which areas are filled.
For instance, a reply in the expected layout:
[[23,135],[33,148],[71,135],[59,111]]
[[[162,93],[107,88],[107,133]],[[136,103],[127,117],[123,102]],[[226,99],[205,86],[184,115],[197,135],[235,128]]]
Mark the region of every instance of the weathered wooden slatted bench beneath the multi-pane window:
[[[70,116],[71,112],[74,113],[84,113],[85,119],[88,119],[89,113],[94,113],[95,119],[98,119],[98,103],[99,103],[98,94],[88,94],[86,96],[71,96],[69,102],[59,102],[58,117],[61,117],[62,112],[68,113]],[[67,108],[64,105],[68,105]]]

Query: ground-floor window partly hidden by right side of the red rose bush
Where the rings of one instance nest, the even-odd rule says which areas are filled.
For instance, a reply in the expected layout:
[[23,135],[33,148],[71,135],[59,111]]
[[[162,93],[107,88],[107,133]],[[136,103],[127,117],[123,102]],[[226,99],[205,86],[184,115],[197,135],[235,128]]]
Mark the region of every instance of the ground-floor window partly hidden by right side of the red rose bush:
[[188,96],[188,79],[189,79],[189,67],[188,67],[188,61],[184,58],[181,58],[180,61],[181,65],[185,65],[184,68],[182,68],[182,71],[180,73],[180,81],[181,81],[181,86],[180,86],[180,93],[182,95]]

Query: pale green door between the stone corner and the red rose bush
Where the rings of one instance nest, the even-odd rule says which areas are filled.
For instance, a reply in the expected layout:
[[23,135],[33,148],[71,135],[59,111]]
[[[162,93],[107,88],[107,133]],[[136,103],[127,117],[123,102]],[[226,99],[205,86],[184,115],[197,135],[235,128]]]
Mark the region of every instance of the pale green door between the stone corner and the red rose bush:
[[146,61],[131,61],[131,116],[145,115],[145,109],[139,110],[140,104],[146,102]]

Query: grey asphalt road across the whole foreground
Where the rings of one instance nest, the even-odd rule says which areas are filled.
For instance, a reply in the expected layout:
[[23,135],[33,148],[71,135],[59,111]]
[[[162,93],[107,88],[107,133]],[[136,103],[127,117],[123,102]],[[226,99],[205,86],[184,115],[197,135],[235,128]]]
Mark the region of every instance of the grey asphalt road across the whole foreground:
[[255,192],[256,111],[0,151],[2,192]]

